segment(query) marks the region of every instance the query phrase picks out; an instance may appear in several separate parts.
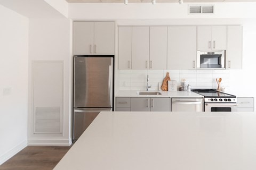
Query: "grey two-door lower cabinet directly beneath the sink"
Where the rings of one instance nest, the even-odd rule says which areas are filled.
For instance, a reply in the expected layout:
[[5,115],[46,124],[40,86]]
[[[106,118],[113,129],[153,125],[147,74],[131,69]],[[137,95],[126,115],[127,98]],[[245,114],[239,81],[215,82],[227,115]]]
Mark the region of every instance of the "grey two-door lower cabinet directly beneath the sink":
[[168,97],[132,97],[131,111],[137,112],[170,112],[170,98]]

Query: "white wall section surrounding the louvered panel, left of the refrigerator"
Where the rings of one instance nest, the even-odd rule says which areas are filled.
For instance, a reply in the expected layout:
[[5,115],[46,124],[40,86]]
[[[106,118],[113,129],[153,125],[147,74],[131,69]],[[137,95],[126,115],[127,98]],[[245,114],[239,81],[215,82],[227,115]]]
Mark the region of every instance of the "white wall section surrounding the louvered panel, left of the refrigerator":
[[[33,134],[32,112],[32,61],[64,62],[64,131],[59,137]],[[71,141],[71,56],[69,19],[30,19],[29,20],[29,134],[28,145],[69,145]],[[49,75],[50,76],[50,75]]]

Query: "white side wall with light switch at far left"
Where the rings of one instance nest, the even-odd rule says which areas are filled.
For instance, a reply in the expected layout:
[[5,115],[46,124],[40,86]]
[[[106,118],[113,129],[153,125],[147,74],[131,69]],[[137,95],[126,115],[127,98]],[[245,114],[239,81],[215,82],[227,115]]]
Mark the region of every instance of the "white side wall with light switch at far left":
[[0,165],[27,146],[28,24],[0,5]]

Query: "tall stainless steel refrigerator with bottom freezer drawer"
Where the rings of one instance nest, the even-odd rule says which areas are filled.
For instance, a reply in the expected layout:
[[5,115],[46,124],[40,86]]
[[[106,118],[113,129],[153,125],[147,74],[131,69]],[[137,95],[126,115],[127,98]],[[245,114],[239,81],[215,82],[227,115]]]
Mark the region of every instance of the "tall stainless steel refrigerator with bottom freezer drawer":
[[75,55],[73,141],[101,111],[113,111],[114,55]]

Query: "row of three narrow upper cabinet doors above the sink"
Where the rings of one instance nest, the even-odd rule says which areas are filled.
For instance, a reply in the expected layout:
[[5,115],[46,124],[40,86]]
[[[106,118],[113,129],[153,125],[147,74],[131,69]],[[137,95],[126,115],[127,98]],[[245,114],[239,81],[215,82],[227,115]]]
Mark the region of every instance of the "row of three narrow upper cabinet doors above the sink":
[[118,68],[166,70],[167,27],[119,27]]

